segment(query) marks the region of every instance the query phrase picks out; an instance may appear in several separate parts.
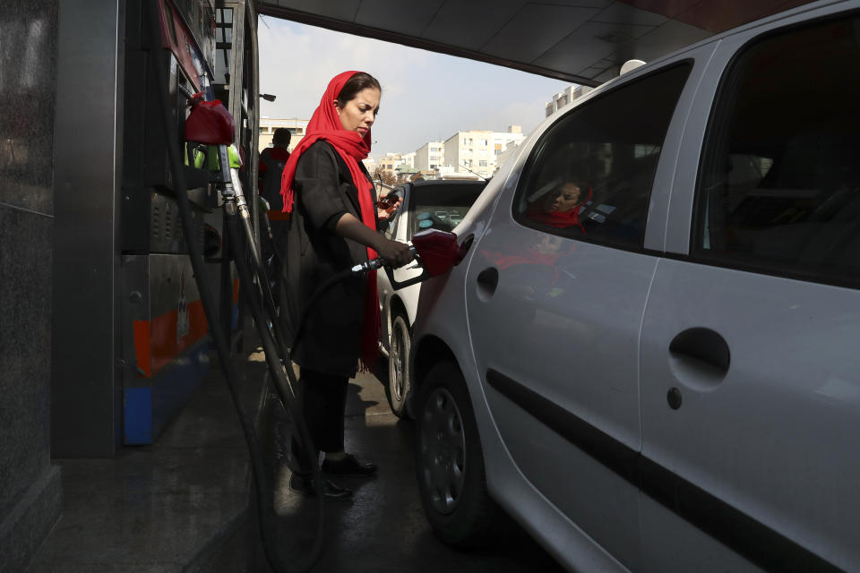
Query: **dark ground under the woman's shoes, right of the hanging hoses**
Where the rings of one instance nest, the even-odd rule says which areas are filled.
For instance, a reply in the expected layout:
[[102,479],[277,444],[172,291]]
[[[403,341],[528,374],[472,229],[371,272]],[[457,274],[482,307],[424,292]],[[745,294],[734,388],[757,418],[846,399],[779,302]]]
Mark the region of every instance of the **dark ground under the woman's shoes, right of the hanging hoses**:
[[[391,414],[383,384],[371,375],[349,383],[347,450],[379,466],[371,479],[341,478],[352,488],[352,501],[327,501],[327,543],[315,573],[404,571],[561,571],[560,566],[528,535],[516,531],[495,546],[469,552],[454,550],[433,535],[418,498],[412,458],[412,423]],[[281,466],[276,495],[282,523],[296,525],[302,535],[288,535],[286,552],[306,548],[316,523],[316,506],[286,487],[288,470]],[[265,568],[263,568],[265,569]]]

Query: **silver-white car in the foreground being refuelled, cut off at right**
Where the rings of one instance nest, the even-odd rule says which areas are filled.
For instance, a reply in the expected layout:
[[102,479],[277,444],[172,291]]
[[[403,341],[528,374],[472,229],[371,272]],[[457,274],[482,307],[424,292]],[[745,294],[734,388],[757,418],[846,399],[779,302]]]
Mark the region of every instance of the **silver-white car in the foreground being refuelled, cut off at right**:
[[523,142],[421,288],[437,535],[500,506],[576,571],[860,571],[858,62],[860,2],[806,4]]

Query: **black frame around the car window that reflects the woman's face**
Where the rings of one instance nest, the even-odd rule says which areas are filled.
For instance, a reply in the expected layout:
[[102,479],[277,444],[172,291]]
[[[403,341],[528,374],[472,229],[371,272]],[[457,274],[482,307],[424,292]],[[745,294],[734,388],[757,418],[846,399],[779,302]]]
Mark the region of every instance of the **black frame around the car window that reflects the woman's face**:
[[[649,80],[652,76],[657,75],[659,73],[665,73],[672,68],[686,66],[687,67],[687,75],[684,78],[684,83],[681,86],[681,90],[677,93],[677,98],[675,99],[675,106],[673,107],[671,115],[669,115],[668,122],[666,124],[666,132],[663,133],[663,142],[660,146],[659,155],[657,161],[654,166],[654,173],[651,177],[651,184],[649,188],[649,197],[647,201],[647,206],[645,209],[645,224],[642,228],[642,234],[639,240],[639,244],[633,245],[628,242],[622,241],[612,241],[607,240],[606,237],[594,237],[581,233],[579,230],[571,229],[563,229],[563,228],[553,228],[547,227],[545,225],[541,225],[540,223],[533,221],[525,216],[525,213],[520,213],[517,209],[517,201],[519,201],[520,196],[523,192],[525,192],[525,186],[527,182],[529,182],[529,175],[534,169],[535,164],[538,161],[538,158],[542,155],[542,144],[546,141],[546,139],[550,136],[551,133],[554,132],[556,128],[558,128],[559,124],[564,122],[569,118],[571,114],[576,113],[581,110],[583,107],[587,107],[592,105],[595,101],[599,101],[602,98],[606,98],[609,94],[614,93],[616,90],[622,90],[625,87],[629,87],[634,83],[638,83],[641,81]],[[546,126],[546,129],[543,133],[540,134],[538,139],[532,144],[531,149],[529,150],[529,157],[526,158],[524,163],[522,164],[522,168],[520,169],[520,175],[518,176],[518,181],[515,189],[512,192],[512,199],[510,201],[510,215],[514,221],[516,221],[522,227],[528,227],[537,231],[545,232],[549,235],[560,236],[564,239],[573,239],[576,241],[580,241],[582,243],[589,244],[597,244],[599,246],[606,246],[613,249],[618,249],[621,251],[627,252],[637,252],[642,254],[652,254],[659,255],[663,254],[663,250],[655,251],[654,249],[650,249],[645,246],[646,237],[648,235],[649,229],[649,220],[651,218],[651,202],[654,199],[654,183],[657,181],[657,175],[659,171],[660,164],[664,161],[664,151],[666,150],[666,141],[667,135],[671,131],[671,126],[673,121],[675,121],[675,115],[678,113],[679,104],[684,98],[684,91],[690,88],[689,82],[693,76],[693,72],[696,67],[695,57],[687,56],[675,59],[671,62],[667,62],[666,64],[661,64],[653,70],[649,70],[647,73],[642,73],[641,75],[637,75],[636,77],[631,78],[629,81],[624,81],[622,83],[618,83],[616,85],[611,86],[606,91],[602,92],[592,92],[589,94],[589,97],[582,101],[580,105],[574,106],[571,109],[564,111],[559,117],[552,122],[552,124]],[[530,183],[530,182],[529,182]]]

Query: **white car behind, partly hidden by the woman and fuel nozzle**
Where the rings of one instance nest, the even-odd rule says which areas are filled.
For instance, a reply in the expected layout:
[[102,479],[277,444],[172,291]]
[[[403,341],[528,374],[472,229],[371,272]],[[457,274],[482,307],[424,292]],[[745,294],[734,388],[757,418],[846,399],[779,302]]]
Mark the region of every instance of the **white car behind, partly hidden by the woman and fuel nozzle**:
[[[448,214],[468,212],[485,186],[486,181],[417,181],[400,185],[392,192],[403,197],[403,206],[386,229],[385,236],[409,243],[413,234],[427,228],[451,231],[459,221],[449,218]],[[462,220],[461,216],[459,220]],[[393,271],[394,279],[400,282],[419,274],[420,270],[409,266]],[[416,284],[395,290],[384,271],[379,271],[376,277],[383,322],[379,342],[383,355],[388,356],[386,395],[391,411],[403,416],[407,415],[405,398],[411,387],[408,358],[412,321],[415,320],[421,286]]]

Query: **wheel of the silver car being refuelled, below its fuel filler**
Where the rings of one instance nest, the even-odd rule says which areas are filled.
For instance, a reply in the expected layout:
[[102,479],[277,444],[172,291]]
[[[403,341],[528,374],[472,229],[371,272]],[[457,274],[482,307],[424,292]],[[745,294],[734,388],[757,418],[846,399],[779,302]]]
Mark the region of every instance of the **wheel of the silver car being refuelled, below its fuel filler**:
[[477,423],[455,364],[434,365],[419,387],[416,406],[415,466],[427,520],[444,543],[489,543],[510,519],[487,493]]

